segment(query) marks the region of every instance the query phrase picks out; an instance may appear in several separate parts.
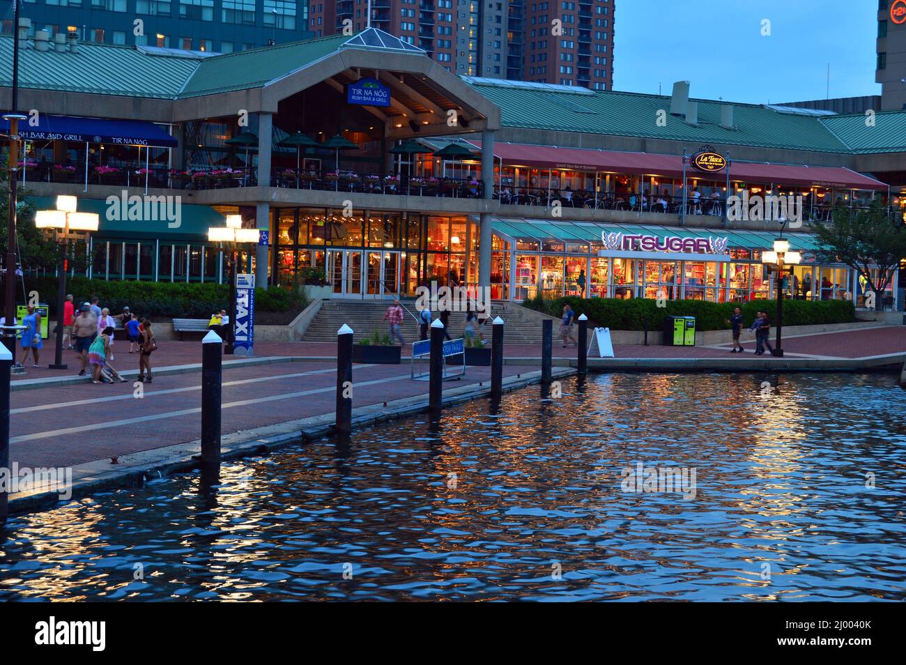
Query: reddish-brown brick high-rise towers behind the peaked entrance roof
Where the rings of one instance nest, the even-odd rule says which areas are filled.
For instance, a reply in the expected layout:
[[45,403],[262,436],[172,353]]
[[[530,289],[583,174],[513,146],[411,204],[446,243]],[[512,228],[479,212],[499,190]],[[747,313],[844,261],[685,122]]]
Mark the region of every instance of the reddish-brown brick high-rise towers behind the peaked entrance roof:
[[615,0],[334,0],[309,5],[315,36],[368,26],[449,72],[610,90]]

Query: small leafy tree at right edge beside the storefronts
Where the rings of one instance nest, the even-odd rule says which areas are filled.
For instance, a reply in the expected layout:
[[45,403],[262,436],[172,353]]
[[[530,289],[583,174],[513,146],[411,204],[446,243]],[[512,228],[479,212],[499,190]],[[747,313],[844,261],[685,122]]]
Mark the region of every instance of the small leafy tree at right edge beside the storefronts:
[[875,309],[882,312],[882,294],[906,257],[906,225],[876,197],[867,210],[836,207],[830,225],[814,222],[812,228],[819,259],[853,268],[874,293]]

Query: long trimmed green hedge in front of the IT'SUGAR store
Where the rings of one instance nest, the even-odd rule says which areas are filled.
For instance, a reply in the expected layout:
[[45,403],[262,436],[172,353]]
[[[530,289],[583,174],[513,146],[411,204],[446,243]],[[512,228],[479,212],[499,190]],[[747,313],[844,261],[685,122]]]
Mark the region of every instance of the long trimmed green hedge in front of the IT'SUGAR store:
[[[727,320],[734,307],[741,307],[746,325],[755,320],[756,313],[767,312],[774,323],[776,301],[757,300],[743,304],[709,303],[703,300],[668,300],[666,307],[658,307],[655,300],[632,298],[579,298],[567,296],[554,300],[534,298],[523,305],[539,312],[560,316],[564,304],[569,304],[576,313],[585,314],[589,323],[606,326],[611,330],[642,330],[648,322],[649,330],[660,330],[665,316],[694,316],[696,330],[728,329]],[[821,323],[850,323],[855,321],[855,305],[845,300],[785,300],[784,325],[816,325]]]

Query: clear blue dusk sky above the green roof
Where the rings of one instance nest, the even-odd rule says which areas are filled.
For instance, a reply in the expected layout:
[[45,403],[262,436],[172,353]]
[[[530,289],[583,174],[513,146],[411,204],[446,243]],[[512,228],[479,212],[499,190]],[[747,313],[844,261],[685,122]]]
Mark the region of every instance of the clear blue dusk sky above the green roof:
[[[776,103],[881,94],[878,0],[616,0],[614,90]],[[762,20],[771,35],[762,36]]]

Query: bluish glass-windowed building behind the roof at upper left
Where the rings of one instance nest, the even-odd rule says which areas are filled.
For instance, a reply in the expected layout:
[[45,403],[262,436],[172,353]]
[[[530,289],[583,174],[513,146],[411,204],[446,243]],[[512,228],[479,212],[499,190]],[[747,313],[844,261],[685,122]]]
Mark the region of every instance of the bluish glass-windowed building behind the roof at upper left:
[[[37,30],[75,33],[85,42],[231,53],[297,42],[307,30],[308,0],[24,0],[19,12]],[[13,33],[13,5],[3,32]]]

